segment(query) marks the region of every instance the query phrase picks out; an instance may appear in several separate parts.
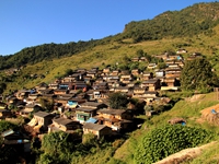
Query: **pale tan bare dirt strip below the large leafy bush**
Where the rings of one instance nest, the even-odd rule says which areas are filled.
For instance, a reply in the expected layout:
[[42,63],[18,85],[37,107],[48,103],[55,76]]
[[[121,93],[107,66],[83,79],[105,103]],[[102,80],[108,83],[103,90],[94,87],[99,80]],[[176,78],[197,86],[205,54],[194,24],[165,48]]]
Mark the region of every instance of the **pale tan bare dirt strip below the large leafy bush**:
[[186,160],[191,160],[191,159],[195,159],[196,156],[200,155],[203,150],[210,147],[210,145],[214,145],[216,143],[215,142],[210,142],[208,144],[205,144],[205,145],[201,145],[201,147],[197,147],[197,148],[191,148],[191,149],[185,149],[185,150],[182,150],[175,154],[172,154],[154,164],[180,164],[182,163],[183,161],[186,161]]

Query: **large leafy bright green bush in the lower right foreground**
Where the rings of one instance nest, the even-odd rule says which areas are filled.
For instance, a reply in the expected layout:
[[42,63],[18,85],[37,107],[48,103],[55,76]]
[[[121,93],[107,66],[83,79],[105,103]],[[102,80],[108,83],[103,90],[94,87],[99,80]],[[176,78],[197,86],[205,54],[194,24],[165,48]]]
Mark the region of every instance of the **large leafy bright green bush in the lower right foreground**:
[[137,164],[153,163],[183,149],[209,141],[211,134],[204,129],[182,125],[153,129],[138,145],[134,159]]

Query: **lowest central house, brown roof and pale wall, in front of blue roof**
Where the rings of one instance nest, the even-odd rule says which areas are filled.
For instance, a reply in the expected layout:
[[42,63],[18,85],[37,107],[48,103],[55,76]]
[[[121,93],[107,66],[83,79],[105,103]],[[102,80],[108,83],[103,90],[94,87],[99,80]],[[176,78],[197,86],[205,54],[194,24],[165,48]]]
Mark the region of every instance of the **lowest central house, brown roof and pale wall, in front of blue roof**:
[[105,136],[111,136],[111,128],[104,125],[85,122],[83,125],[83,133],[93,133],[100,139]]

